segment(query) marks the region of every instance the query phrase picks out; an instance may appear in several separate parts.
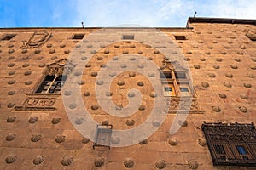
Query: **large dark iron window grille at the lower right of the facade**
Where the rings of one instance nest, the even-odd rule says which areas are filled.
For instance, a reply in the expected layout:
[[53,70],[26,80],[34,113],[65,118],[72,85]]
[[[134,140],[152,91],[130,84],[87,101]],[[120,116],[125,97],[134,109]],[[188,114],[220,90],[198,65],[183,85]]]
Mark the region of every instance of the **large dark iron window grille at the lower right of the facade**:
[[201,126],[213,165],[256,166],[254,123],[207,123]]

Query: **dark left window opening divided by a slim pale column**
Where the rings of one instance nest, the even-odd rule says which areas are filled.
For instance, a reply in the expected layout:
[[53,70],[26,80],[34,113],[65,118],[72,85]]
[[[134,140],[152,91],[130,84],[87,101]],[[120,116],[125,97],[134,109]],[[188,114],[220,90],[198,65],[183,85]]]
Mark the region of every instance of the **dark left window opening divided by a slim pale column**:
[[67,76],[46,76],[36,93],[40,94],[61,94],[61,88]]

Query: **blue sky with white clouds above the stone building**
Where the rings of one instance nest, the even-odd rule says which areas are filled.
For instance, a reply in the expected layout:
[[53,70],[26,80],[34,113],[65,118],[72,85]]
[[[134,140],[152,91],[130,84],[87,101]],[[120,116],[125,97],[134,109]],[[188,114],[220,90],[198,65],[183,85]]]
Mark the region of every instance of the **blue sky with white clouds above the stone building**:
[[189,16],[256,19],[255,0],[0,0],[0,27],[184,27]]

